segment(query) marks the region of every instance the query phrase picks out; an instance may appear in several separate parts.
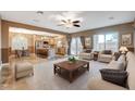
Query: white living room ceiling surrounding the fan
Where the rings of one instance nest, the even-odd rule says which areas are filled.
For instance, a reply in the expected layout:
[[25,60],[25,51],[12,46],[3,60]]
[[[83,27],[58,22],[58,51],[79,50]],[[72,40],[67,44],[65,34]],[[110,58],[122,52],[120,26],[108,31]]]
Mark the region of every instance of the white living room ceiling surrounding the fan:
[[[86,29],[99,28],[110,25],[132,22],[135,18],[134,11],[83,11],[77,13],[77,17],[83,17],[81,27],[65,28],[57,26],[58,21],[52,16],[62,14],[63,11],[44,11],[44,14],[37,14],[36,11],[0,11],[3,20],[35,25],[39,27],[50,28],[64,33],[76,33]],[[110,18],[110,17],[113,17]],[[35,20],[35,21],[34,21]]]

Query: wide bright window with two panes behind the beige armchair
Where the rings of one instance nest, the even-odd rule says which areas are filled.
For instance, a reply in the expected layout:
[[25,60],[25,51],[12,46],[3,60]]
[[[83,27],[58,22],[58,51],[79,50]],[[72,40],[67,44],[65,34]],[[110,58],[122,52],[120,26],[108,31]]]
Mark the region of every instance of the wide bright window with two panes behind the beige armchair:
[[118,33],[106,34],[106,35],[94,35],[94,50],[112,50],[118,51],[119,39]]

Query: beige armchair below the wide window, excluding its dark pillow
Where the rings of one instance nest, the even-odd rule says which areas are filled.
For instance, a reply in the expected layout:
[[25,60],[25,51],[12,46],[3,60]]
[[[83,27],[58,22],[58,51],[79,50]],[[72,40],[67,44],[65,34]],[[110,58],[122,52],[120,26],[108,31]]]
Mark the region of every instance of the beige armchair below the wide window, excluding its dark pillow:
[[103,51],[101,51],[98,54],[98,61],[99,62],[109,63],[109,62],[111,62],[112,58],[113,58],[113,53],[112,52],[111,52],[111,54],[106,54],[106,53],[103,53]]

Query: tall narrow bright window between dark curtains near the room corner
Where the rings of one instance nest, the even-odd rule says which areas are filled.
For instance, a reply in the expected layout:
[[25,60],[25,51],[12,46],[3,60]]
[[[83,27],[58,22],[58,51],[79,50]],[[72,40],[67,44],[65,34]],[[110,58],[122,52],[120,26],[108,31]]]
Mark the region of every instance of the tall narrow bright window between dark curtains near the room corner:
[[83,51],[82,42],[79,37],[72,38],[71,42],[71,54],[77,55]]

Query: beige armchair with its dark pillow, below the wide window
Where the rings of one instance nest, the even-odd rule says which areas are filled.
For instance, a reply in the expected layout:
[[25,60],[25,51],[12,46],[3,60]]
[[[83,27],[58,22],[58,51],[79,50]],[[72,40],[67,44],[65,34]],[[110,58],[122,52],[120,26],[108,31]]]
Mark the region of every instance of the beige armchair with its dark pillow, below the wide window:
[[113,58],[113,52],[111,50],[103,50],[98,54],[99,62],[109,63]]

